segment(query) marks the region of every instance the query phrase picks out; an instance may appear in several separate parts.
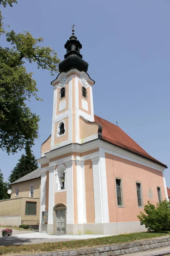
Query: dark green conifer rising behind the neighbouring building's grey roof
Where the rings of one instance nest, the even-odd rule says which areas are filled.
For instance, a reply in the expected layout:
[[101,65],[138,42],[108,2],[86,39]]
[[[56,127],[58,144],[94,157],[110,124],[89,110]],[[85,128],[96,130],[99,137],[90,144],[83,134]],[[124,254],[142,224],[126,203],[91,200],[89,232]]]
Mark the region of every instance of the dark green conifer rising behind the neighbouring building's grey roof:
[[33,172],[38,168],[38,163],[34,154],[32,154],[30,145],[26,144],[26,154],[22,154],[20,160],[18,160],[17,165],[11,172],[8,180],[10,183],[13,183],[15,180],[20,179],[21,177],[27,175],[30,172]]

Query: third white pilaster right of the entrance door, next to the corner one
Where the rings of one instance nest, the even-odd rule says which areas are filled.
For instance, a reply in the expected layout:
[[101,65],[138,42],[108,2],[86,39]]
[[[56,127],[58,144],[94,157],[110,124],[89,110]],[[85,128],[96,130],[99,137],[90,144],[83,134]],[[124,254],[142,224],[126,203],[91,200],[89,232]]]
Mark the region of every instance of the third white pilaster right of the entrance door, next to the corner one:
[[95,223],[102,223],[102,195],[100,182],[99,156],[91,157],[93,163],[94,209]]

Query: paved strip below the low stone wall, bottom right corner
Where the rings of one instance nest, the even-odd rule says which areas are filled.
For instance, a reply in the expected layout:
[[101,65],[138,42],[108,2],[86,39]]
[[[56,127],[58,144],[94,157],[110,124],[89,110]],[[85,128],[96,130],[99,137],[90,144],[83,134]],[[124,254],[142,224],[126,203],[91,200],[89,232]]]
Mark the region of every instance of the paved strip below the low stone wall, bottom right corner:
[[129,256],[164,256],[170,255],[170,246],[164,246],[158,249],[154,249],[154,250],[147,250],[147,251],[142,251],[140,253],[130,253],[130,254],[126,254]]

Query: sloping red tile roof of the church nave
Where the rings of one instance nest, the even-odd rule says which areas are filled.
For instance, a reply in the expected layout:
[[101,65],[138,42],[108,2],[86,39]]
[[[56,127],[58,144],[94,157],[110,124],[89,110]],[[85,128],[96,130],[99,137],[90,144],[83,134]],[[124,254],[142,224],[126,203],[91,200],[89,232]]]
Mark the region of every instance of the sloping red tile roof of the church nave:
[[111,122],[102,119],[99,116],[94,115],[94,121],[102,125],[102,140],[106,140],[107,142],[116,145],[120,148],[123,148],[127,151],[138,154],[142,157],[148,158],[156,163],[159,163],[166,167],[163,163],[159,162],[155,158],[151,157],[144,151],[134,140],[132,140],[122,129],[113,125]]

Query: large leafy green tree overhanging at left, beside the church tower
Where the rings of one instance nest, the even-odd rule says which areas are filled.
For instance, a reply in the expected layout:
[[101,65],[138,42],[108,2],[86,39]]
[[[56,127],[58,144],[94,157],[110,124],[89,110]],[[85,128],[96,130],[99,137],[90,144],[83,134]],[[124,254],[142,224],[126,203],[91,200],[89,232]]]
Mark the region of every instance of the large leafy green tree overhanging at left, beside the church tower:
[[[0,5],[12,6],[16,0],[0,0]],[[36,81],[27,73],[24,64],[36,62],[37,67],[49,70],[51,75],[58,72],[59,58],[50,47],[40,47],[43,38],[33,38],[29,32],[6,33],[0,13],[0,33],[6,34],[11,48],[0,47],[0,148],[8,154],[25,147],[26,142],[34,144],[38,137],[39,116],[26,105],[37,96]]]

